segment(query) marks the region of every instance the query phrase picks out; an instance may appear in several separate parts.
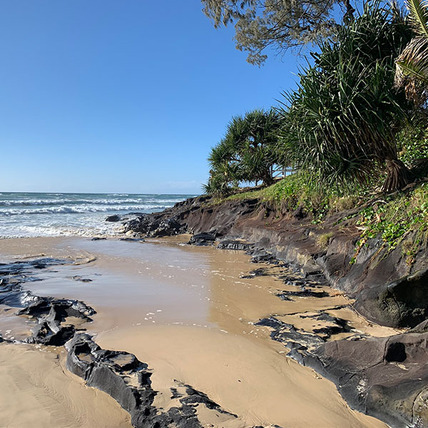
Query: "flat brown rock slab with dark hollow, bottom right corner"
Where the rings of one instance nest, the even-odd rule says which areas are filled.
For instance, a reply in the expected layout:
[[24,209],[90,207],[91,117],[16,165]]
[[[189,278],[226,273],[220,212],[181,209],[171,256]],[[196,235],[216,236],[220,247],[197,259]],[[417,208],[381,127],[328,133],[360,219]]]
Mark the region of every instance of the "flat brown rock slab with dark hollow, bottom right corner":
[[325,342],[275,317],[258,325],[272,328],[289,357],[332,380],[352,408],[394,428],[428,427],[427,332]]

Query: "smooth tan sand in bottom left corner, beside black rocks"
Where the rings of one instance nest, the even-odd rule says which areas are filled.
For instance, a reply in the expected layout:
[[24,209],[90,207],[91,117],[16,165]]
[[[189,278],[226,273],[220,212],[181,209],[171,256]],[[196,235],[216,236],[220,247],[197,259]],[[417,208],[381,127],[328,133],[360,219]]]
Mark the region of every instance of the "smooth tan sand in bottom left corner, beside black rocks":
[[48,347],[1,344],[0,379],[1,427],[131,428],[114,399],[86,387]]

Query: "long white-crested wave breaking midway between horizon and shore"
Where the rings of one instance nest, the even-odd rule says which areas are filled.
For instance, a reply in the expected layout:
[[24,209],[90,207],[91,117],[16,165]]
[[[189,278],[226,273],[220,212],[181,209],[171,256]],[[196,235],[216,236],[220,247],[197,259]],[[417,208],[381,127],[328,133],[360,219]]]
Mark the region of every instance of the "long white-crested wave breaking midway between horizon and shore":
[[165,205],[78,205],[78,206],[59,206],[51,208],[34,208],[24,210],[0,210],[0,216],[10,217],[11,215],[31,215],[31,214],[84,214],[84,213],[108,213],[112,211],[148,211],[163,210],[168,208]]

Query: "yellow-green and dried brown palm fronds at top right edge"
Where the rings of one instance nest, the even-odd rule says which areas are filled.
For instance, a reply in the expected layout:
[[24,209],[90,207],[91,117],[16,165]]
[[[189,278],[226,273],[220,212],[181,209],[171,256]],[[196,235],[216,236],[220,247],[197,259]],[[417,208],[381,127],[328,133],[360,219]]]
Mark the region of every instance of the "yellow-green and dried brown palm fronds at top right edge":
[[417,106],[428,99],[428,1],[407,0],[414,38],[397,58],[395,82]]

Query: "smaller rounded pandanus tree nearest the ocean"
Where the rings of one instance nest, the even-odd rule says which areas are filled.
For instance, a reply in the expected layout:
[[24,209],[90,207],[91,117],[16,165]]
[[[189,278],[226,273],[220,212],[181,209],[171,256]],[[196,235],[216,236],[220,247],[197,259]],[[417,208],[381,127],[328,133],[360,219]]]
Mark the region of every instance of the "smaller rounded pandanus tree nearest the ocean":
[[277,163],[280,117],[275,110],[254,110],[232,118],[225,137],[208,156],[210,179],[207,193],[227,193],[230,185],[244,182],[273,182],[272,166]]

